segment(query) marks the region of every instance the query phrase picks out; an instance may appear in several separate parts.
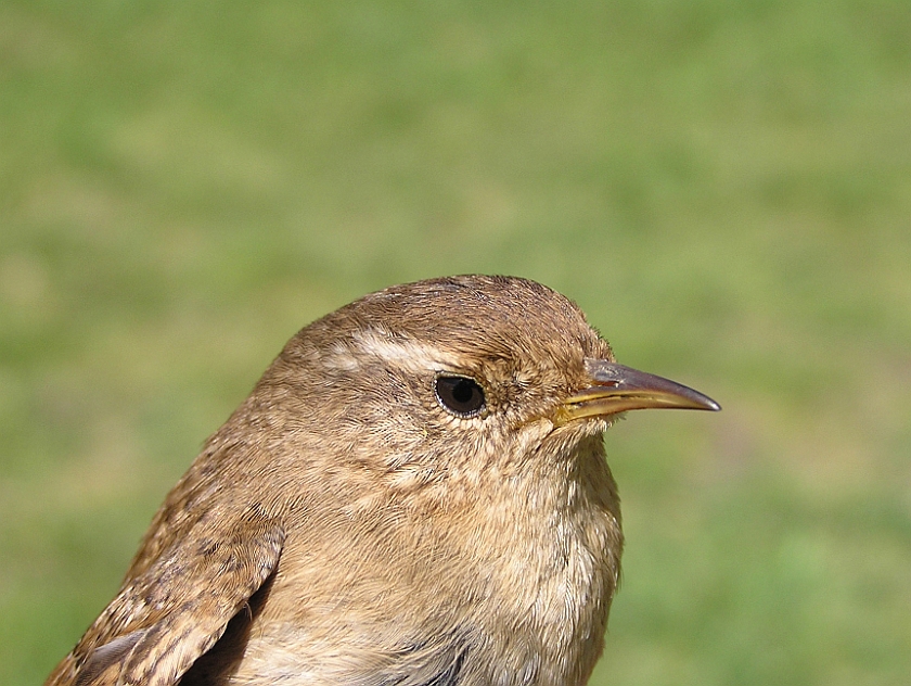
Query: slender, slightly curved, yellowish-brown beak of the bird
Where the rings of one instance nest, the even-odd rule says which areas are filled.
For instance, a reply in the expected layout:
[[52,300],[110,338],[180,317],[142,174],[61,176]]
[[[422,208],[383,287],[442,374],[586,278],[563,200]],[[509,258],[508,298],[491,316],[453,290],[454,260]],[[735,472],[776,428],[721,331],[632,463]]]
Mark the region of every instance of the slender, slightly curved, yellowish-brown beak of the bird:
[[606,417],[630,409],[721,409],[718,403],[698,391],[606,359],[586,359],[586,371],[591,385],[563,401],[557,410],[557,423]]

